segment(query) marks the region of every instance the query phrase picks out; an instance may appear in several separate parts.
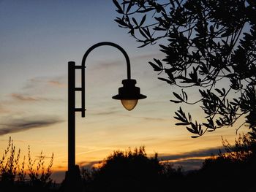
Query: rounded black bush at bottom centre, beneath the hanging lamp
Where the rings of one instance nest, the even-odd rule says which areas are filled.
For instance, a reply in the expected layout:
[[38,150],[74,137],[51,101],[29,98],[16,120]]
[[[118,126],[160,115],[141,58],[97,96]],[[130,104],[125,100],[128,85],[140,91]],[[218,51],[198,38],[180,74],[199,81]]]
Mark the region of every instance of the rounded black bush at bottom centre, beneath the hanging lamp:
[[114,151],[101,164],[93,173],[96,191],[148,191],[156,188],[162,169],[157,153],[148,158],[145,147]]

